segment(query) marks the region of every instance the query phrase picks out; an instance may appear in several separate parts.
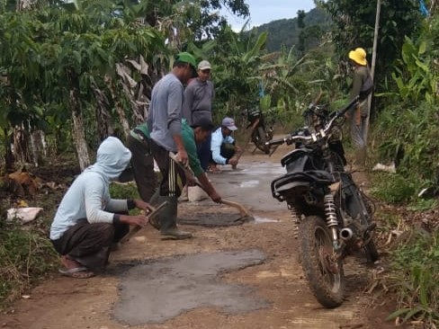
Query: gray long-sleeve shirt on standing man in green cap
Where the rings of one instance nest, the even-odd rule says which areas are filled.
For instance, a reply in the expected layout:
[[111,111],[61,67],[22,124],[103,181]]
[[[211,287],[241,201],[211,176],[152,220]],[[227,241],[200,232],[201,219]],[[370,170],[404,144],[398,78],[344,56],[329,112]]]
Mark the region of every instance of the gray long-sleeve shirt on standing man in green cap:
[[175,135],[181,135],[183,84],[169,73],[162,77],[152,89],[148,111],[150,137],[166,150],[176,152]]

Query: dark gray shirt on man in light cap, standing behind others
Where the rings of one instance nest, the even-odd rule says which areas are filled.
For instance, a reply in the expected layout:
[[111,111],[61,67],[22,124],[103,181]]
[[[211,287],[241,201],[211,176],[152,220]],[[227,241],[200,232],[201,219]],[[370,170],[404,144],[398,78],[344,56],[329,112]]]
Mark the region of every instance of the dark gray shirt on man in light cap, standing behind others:
[[211,104],[214,97],[211,81],[193,79],[184,90],[183,117],[190,126],[201,118],[212,120]]

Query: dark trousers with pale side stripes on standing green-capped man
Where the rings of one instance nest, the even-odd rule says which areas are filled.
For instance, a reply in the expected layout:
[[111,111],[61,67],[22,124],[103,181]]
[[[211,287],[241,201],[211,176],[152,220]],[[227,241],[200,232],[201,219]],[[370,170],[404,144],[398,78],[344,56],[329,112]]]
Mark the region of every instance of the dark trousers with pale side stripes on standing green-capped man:
[[183,187],[186,183],[186,176],[174,160],[169,157],[169,152],[164,147],[149,139],[152,155],[157,162],[162,181],[159,185],[159,192],[164,197],[179,197],[182,194]]

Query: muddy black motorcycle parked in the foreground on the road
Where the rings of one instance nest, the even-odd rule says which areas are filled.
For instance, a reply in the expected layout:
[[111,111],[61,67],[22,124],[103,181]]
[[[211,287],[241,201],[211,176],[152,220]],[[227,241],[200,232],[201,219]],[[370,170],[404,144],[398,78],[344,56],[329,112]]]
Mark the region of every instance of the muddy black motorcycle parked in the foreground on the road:
[[354,99],[329,113],[325,106],[311,103],[305,111],[309,126],[267,143],[295,145],[282,157],[287,173],[273,180],[273,198],[287,202],[309,288],[328,308],[340,306],[345,296],[345,256],[362,250],[368,262],[379,257],[373,242],[372,201],[345,171],[339,128],[345,112],[357,104]]

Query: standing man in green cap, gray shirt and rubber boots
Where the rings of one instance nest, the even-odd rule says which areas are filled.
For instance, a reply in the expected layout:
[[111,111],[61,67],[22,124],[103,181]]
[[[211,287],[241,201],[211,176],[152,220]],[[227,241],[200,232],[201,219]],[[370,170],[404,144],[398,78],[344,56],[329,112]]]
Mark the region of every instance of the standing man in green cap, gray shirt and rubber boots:
[[195,58],[187,52],[179,53],[173,69],[152,89],[148,111],[149,147],[160,169],[162,180],[149,202],[152,205],[168,202],[160,215],[160,235],[165,239],[192,237],[177,227],[177,203],[185,184],[184,171],[169,157],[176,153],[181,164],[188,164],[188,155],[182,138],[183,84],[196,73]]

